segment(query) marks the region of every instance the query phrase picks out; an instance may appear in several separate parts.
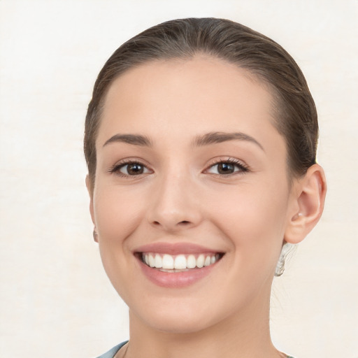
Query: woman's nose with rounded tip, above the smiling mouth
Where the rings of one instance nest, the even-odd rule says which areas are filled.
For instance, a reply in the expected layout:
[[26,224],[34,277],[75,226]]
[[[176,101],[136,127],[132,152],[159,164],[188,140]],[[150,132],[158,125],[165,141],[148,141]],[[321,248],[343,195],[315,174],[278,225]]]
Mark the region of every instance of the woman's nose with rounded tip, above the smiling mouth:
[[148,221],[153,227],[175,232],[196,227],[202,220],[195,185],[185,175],[167,175],[156,183]]

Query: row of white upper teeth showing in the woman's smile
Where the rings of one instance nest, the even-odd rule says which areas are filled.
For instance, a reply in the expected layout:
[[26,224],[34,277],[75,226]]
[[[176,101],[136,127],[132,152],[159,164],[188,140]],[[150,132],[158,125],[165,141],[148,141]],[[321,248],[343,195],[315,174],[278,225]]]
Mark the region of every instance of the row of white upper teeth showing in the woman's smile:
[[143,253],[143,262],[150,267],[155,268],[165,268],[165,269],[185,269],[185,268],[195,268],[203,267],[215,264],[217,261],[217,256],[212,255],[199,255],[197,258],[194,255],[177,255],[172,256],[165,254],[163,257],[159,254],[146,254]]

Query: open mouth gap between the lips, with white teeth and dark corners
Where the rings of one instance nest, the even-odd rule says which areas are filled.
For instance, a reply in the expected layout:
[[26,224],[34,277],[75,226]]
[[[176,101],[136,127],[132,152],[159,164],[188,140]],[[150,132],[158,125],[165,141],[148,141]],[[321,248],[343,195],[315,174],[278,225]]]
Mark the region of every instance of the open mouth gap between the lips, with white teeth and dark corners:
[[158,271],[176,273],[183,271],[197,270],[211,266],[224,256],[223,253],[207,253],[196,255],[169,255],[155,252],[138,252],[141,262],[150,268]]

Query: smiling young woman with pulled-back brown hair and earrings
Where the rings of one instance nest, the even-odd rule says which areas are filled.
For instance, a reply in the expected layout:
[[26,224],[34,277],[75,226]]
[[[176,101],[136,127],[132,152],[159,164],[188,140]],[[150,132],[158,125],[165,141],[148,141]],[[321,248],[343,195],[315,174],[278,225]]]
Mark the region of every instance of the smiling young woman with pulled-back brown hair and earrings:
[[174,20],[114,52],[85,156],[130,339],[101,357],[288,357],[271,343],[271,283],[322,214],[317,131],[297,64],[241,24]]

